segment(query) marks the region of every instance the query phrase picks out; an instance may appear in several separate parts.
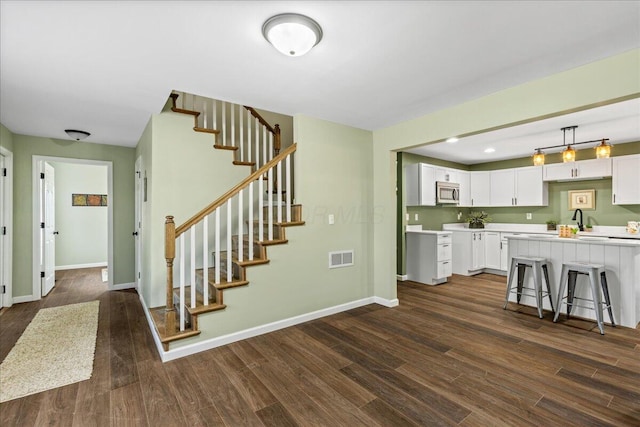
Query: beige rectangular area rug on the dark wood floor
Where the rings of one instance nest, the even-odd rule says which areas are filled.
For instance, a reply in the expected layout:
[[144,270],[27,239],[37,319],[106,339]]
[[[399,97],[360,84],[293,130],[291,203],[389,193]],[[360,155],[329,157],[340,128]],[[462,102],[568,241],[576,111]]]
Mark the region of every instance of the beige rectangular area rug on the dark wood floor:
[[0,364],[0,402],[91,378],[99,301],[43,308]]

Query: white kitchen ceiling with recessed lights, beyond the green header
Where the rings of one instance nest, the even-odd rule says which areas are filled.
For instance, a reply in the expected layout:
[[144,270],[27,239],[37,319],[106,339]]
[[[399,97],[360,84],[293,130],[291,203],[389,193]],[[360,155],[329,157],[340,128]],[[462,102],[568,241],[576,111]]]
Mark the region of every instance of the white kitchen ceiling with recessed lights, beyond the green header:
[[[564,144],[565,136],[561,129],[567,126],[578,126],[575,142],[608,138],[609,143],[615,146],[640,141],[640,98],[468,136],[455,143],[440,142],[405,151],[466,165],[516,159],[532,156],[536,148]],[[566,143],[571,142],[573,133],[568,131]],[[584,150],[596,145],[577,145],[575,148]],[[495,151],[486,153],[489,148]],[[543,151],[550,154],[562,150],[563,147],[557,147]]]

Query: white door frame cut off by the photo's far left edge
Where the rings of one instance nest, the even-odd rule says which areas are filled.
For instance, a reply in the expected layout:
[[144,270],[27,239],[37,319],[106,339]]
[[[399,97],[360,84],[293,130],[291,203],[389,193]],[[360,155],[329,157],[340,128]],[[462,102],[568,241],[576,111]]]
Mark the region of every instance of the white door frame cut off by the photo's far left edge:
[[[2,239],[2,277],[0,284],[5,285],[5,293],[2,297],[2,305],[11,307],[13,305],[13,153],[4,147],[0,147],[0,156],[4,158],[4,167],[7,169],[7,176],[0,185],[4,185],[2,206],[2,217],[4,224],[0,227],[7,227],[7,232]],[[0,306],[2,308],[2,306]]]

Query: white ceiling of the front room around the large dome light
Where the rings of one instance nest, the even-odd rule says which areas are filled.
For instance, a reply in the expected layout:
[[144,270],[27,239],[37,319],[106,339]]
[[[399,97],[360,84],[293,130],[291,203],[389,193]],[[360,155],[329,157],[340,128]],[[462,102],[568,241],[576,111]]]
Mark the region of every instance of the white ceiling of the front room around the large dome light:
[[[263,39],[283,12],[306,56]],[[375,130],[638,47],[638,1],[2,0],[0,122],[135,146],[176,89]]]

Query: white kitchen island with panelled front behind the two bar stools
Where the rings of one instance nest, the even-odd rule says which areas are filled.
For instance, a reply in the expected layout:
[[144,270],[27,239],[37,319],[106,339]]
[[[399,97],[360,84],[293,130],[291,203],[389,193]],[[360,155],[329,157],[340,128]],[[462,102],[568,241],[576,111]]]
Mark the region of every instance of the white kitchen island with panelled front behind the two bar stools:
[[[616,239],[597,236],[560,238],[555,235],[515,235],[508,237],[509,262],[514,256],[535,256],[547,259],[549,281],[554,305],[558,306],[558,288],[562,263],[570,261],[590,262],[605,266],[613,315],[617,324],[635,328],[640,322],[640,240]],[[526,275],[525,286],[532,287],[532,275]],[[578,277],[576,296],[591,299],[589,286],[583,282],[586,276]],[[505,289],[506,290],[506,289]],[[512,294],[509,301],[515,302]],[[523,296],[521,304],[535,307],[534,297]],[[584,303],[589,305],[590,303]],[[545,310],[550,310],[549,301],[544,300]],[[566,306],[561,306],[564,318]],[[582,307],[574,307],[572,316],[595,321],[595,312]],[[605,319],[608,318],[605,316]]]

